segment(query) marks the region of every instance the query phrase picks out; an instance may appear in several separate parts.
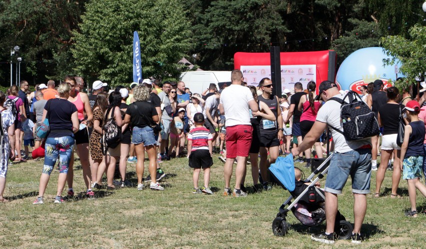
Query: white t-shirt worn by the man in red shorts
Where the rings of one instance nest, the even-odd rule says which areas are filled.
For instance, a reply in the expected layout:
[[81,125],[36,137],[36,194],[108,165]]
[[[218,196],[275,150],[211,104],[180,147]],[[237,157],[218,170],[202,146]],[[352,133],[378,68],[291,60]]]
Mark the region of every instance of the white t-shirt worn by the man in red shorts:
[[223,89],[219,103],[223,105],[226,127],[234,125],[251,125],[248,101],[253,95],[248,87],[231,84]]

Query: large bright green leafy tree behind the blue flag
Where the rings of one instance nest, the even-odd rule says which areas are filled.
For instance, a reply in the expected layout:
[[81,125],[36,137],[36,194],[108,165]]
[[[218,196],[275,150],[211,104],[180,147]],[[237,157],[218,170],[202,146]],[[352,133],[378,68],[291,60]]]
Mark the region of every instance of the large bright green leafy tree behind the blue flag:
[[177,0],[93,0],[74,32],[76,73],[112,85],[132,79],[133,31],[140,39],[143,77],[177,78],[189,47],[189,23]]

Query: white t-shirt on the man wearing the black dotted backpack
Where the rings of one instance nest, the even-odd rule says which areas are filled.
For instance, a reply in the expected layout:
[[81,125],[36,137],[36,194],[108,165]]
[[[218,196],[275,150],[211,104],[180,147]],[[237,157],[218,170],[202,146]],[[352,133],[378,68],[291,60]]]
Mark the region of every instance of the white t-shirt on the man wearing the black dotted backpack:
[[[343,99],[344,95],[337,94],[334,97]],[[331,125],[332,127],[339,129],[340,131],[343,131],[343,128],[340,122],[340,106],[341,106],[340,103],[338,103],[337,101],[334,101],[334,100],[326,101],[321,106],[321,108],[319,108],[318,114],[316,115],[316,121],[327,123],[328,125]],[[335,131],[333,128],[330,128],[330,131],[334,141],[334,151],[336,152],[344,153],[344,152],[358,149],[359,147],[362,147],[363,145],[367,145],[367,144],[371,145],[371,138],[364,138],[362,140],[356,140],[356,141],[346,141],[346,139],[341,133]]]

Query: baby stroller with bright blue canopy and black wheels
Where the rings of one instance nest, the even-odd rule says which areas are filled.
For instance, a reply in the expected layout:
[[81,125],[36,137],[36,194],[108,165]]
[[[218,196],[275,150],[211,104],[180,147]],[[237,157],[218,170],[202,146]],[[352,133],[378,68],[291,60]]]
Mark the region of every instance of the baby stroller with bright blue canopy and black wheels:
[[[284,236],[287,233],[288,224],[286,217],[289,211],[293,213],[294,217],[301,224],[307,227],[317,226],[325,220],[323,209],[325,200],[324,191],[316,188],[315,183],[326,174],[331,155],[326,159],[316,160],[320,165],[317,168],[312,168],[312,174],[304,181],[295,180],[293,157],[291,154],[285,158],[278,158],[275,164],[269,167],[269,172],[275,181],[291,194],[281,205],[279,213],[272,222],[272,232],[275,236]],[[312,181],[315,175],[317,177]],[[310,184],[306,185],[304,183]],[[290,203],[292,199],[294,201]],[[287,205],[288,207],[285,207]],[[352,236],[352,225],[338,211],[334,229],[336,237],[340,240],[347,240]]]

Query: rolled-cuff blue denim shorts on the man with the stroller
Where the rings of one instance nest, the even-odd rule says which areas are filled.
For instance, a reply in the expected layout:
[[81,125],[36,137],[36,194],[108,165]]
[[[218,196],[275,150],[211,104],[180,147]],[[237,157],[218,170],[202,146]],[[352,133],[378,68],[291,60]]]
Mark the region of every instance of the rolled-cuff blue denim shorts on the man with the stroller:
[[352,179],[352,192],[370,193],[371,149],[357,149],[345,153],[334,152],[330,160],[324,190],[341,194],[347,178]]

